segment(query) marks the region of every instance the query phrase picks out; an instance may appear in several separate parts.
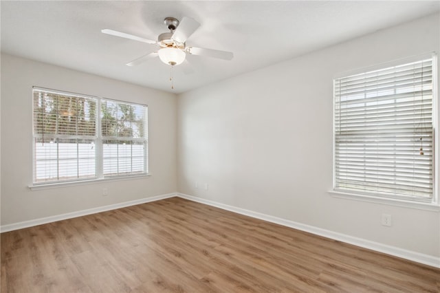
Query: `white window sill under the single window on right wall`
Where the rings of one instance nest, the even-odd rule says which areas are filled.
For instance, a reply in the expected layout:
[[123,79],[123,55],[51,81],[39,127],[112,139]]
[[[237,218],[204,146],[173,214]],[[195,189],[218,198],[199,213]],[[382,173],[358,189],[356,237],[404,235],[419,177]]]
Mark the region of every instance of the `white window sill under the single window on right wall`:
[[428,202],[411,202],[403,199],[392,199],[392,198],[382,198],[374,197],[371,195],[358,195],[354,193],[344,193],[342,191],[328,191],[332,197],[351,199],[359,202],[371,202],[374,204],[386,204],[388,206],[400,206],[403,208],[415,208],[418,210],[429,210],[431,212],[440,212],[439,204],[428,203]]

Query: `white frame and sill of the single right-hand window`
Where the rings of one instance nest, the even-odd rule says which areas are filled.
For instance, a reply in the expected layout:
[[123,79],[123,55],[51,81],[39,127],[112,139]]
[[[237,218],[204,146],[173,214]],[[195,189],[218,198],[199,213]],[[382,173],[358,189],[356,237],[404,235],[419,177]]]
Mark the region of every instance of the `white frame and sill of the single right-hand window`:
[[[383,195],[375,195],[371,193],[360,193],[353,191],[345,191],[339,190],[335,188],[336,186],[336,133],[335,133],[335,121],[336,121],[336,108],[335,108],[335,90],[333,88],[333,168],[332,168],[332,178],[333,178],[333,188],[329,191],[329,193],[333,197],[343,198],[343,199],[351,199],[362,202],[374,202],[377,204],[386,204],[392,206],[403,206],[406,208],[417,208],[421,210],[431,210],[431,211],[440,211],[440,202],[439,202],[439,189],[438,189],[438,174],[439,174],[439,76],[438,76],[438,58],[435,52],[430,52],[428,54],[423,54],[419,56],[412,56],[410,58],[399,59],[397,61],[392,61],[389,63],[383,63],[380,65],[375,65],[372,67],[356,69],[351,72],[344,72],[343,74],[338,74],[338,76],[334,77],[334,80],[338,78],[342,78],[345,76],[351,76],[355,74],[361,74],[364,72],[371,72],[377,69],[384,69],[387,67],[394,67],[397,65],[402,65],[406,63],[411,63],[415,61],[419,61],[426,58],[432,58],[432,127],[434,129],[434,142],[433,142],[433,151],[434,151],[434,160],[433,160],[433,194],[432,198],[426,201],[418,201],[412,200],[410,198],[404,197],[393,197],[393,196],[383,196]],[[334,85],[333,85],[334,86]]]

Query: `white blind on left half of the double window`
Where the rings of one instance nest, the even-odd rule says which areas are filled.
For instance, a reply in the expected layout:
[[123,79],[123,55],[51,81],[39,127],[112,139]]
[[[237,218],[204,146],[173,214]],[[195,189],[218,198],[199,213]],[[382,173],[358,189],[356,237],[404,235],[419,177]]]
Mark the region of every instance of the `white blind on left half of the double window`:
[[96,99],[34,89],[34,182],[96,177]]

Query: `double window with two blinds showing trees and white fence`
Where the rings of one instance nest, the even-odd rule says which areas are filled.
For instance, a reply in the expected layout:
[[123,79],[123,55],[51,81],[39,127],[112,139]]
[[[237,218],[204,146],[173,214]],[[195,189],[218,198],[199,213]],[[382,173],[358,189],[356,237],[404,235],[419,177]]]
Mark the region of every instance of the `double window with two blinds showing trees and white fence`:
[[148,173],[145,105],[37,87],[33,102],[34,184]]

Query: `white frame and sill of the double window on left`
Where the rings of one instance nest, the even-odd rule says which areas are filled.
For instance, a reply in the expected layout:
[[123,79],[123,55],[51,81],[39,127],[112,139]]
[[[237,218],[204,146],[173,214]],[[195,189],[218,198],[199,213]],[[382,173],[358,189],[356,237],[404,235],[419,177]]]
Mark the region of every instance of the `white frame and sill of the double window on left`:
[[[48,182],[36,182],[36,179],[34,177],[35,175],[35,167],[36,167],[36,158],[35,158],[35,138],[39,135],[36,135],[34,133],[34,90],[38,91],[45,91],[53,94],[61,94],[65,96],[76,96],[76,97],[83,97],[83,98],[91,98],[96,100],[96,131],[94,135],[95,139],[95,170],[96,170],[96,176],[91,178],[84,178],[84,179],[75,179],[75,180],[60,180],[60,181],[48,181]],[[102,101],[111,101],[116,103],[122,103],[126,105],[137,105],[144,107],[144,149],[143,149],[143,155],[144,155],[144,172],[142,173],[135,173],[135,174],[126,174],[123,175],[104,175],[103,173],[103,151],[102,151],[102,129],[101,129],[101,104]],[[137,141],[140,141],[142,139],[134,139]],[[115,100],[115,99],[109,99],[109,98],[103,98],[100,96],[90,96],[85,94],[77,94],[72,93],[68,91],[61,91],[58,89],[47,89],[44,87],[32,87],[32,184],[30,184],[28,187],[31,190],[38,190],[42,188],[56,188],[56,187],[62,187],[62,186],[73,186],[73,185],[80,185],[80,184],[90,184],[94,182],[102,182],[102,181],[109,181],[109,180],[133,180],[137,178],[142,177],[148,177],[151,174],[148,173],[148,105],[140,104],[137,102],[127,102],[124,100]]]

